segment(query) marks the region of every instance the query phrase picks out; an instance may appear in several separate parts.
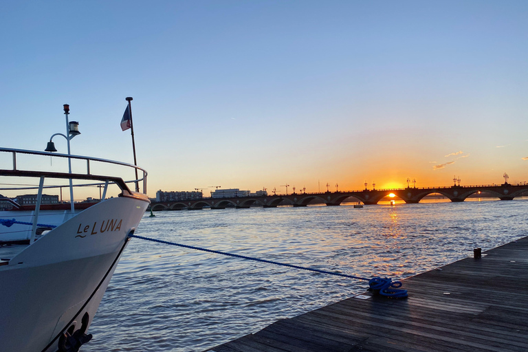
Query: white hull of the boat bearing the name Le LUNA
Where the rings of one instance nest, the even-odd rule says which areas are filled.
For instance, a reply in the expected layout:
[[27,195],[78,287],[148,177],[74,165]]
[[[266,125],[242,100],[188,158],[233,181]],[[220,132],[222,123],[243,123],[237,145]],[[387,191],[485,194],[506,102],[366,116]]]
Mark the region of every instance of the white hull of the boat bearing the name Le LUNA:
[[57,337],[85,313],[89,325],[147,206],[141,197],[102,201],[0,265],[0,352],[58,351]]

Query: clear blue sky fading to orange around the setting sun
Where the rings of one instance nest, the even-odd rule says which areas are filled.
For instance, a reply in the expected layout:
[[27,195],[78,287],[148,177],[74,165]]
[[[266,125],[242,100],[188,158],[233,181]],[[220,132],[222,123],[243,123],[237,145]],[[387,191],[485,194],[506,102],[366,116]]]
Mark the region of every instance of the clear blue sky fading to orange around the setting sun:
[[[528,181],[528,1],[0,4],[2,146],[137,162],[156,190]],[[66,153],[64,140],[56,147]]]

